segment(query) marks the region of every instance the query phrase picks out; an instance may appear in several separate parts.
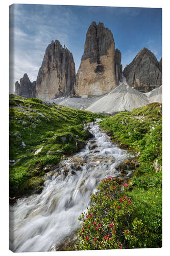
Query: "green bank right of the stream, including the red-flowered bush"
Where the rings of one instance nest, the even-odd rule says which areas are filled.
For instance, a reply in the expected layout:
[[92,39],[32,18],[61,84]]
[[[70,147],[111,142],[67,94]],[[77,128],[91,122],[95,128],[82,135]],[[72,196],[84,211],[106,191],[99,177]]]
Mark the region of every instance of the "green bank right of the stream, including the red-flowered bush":
[[128,184],[111,177],[91,197],[79,220],[77,250],[162,246],[162,104],[151,103],[101,121],[120,147],[138,155]]

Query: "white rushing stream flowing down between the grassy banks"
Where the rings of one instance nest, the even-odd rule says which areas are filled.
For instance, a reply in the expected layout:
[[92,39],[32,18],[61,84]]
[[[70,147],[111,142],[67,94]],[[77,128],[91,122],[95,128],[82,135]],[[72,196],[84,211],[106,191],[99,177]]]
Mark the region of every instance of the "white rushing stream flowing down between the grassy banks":
[[57,250],[80,228],[78,217],[90,205],[96,186],[108,176],[119,175],[115,166],[129,158],[128,152],[116,147],[97,122],[88,125],[94,137],[81,152],[63,160],[53,175],[47,175],[42,193],[10,206],[11,250]]

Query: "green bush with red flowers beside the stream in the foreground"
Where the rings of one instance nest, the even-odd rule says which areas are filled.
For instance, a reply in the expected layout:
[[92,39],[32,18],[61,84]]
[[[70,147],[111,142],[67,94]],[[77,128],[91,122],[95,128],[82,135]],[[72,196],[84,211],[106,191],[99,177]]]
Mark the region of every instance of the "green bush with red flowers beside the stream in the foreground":
[[77,250],[148,247],[147,227],[127,197],[126,186],[110,177],[100,183],[88,212],[79,217],[84,224],[78,231]]

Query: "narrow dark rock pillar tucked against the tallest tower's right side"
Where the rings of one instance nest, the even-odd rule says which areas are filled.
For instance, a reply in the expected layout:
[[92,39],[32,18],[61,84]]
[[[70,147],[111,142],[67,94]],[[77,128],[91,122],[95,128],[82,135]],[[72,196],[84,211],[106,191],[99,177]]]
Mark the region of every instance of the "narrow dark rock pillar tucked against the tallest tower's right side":
[[116,49],[115,56],[114,56],[114,69],[115,69],[115,78],[116,78],[117,85],[119,84],[119,82],[122,82],[121,60],[122,60],[122,54],[118,49]]

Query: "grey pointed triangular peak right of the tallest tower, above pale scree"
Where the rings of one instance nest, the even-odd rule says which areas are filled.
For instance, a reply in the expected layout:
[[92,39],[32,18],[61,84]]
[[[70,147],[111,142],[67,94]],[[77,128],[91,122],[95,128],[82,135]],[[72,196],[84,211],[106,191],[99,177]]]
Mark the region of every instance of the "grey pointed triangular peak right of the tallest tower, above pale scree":
[[129,86],[149,92],[162,84],[162,73],[155,55],[143,48],[123,71]]

